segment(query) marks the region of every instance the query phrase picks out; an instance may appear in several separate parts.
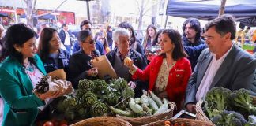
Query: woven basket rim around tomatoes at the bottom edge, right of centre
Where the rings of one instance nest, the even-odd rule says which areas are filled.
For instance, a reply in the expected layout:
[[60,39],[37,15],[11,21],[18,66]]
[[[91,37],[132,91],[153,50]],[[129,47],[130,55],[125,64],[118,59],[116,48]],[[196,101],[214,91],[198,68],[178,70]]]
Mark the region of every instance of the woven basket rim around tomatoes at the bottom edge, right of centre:
[[[156,122],[152,122],[150,124],[145,124],[143,126],[164,126],[164,122],[166,120],[158,120]],[[186,126],[214,126],[214,124],[210,124],[208,122],[205,121],[201,121],[201,120],[192,120],[192,119],[184,119],[184,118],[178,118],[175,120],[171,120],[168,119],[168,121],[171,122],[171,124],[173,123],[185,123]]]

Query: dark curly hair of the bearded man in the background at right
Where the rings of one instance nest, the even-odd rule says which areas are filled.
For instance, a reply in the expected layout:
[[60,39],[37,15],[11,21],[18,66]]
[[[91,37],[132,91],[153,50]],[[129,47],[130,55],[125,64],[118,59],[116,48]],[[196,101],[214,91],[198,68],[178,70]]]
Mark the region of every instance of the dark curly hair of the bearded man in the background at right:
[[186,24],[190,24],[190,27],[194,28],[194,31],[197,32],[197,34],[195,36],[195,42],[198,41],[198,39],[200,39],[200,37],[201,37],[201,24],[200,24],[199,20],[196,18],[189,18],[183,23],[183,37],[185,37],[185,38],[186,38],[186,35],[185,35],[186,33],[184,31],[186,28]]

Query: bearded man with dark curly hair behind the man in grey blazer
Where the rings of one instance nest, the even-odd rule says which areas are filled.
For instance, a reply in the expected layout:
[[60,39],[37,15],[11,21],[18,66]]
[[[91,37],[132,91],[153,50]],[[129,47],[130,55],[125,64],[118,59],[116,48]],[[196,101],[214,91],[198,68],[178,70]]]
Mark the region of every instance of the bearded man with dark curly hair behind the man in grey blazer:
[[[189,18],[183,23],[183,46],[199,46],[204,44],[205,41],[201,38],[201,24],[196,18]],[[206,46],[205,46],[206,47]],[[202,49],[205,48],[203,46]],[[194,48],[197,49],[197,48]],[[201,54],[201,49],[191,52],[186,52],[188,54],[188,59],[190,60],[191,68],[194,70],[195,65],[197,65],[198,57]]]

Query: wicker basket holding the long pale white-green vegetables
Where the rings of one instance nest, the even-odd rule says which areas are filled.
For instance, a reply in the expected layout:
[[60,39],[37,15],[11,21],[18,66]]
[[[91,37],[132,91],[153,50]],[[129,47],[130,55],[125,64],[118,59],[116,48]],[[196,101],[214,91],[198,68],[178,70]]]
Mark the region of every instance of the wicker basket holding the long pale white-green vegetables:
[[169,119],[173,116],[173,110],[175,109],[175,102],[168,102],[170,109],[166,111],[165,113],[160,113],[152,116],[146,116],[146,117],[121,117],[117,115],[117,117],[121,117],[124,120],[127,120],[130,122],[130,124],[133,124],[133,126],[137,125],[143,125],[143,124],[149,124],[151,122],[155,122],[157,120],[164,120]]

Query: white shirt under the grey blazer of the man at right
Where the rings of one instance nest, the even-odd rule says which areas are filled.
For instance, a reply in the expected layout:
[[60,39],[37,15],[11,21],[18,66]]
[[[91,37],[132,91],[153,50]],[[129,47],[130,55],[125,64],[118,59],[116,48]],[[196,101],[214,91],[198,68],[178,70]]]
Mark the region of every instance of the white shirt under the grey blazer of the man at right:
[[[232,45],[233,47],[233,45]],[[213,60],[210,62],[206,72],[205,76],[201,80],[201,83],[198,87],[198,91],[196,94],[196,100],[199,101],[201,98],[205,98],[206,93],[209,91],[209,87],[211,87],[211,84],[213,83],[213,79],[216,75],[216,72],[220,69],[220,65],[222,65],[222,62],[227,57],[228,53],[232,49],[232,47],[226,52],[220,59],[216,60],[216,54],[213,54]]]

